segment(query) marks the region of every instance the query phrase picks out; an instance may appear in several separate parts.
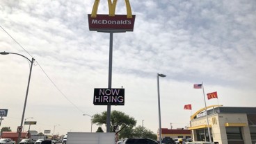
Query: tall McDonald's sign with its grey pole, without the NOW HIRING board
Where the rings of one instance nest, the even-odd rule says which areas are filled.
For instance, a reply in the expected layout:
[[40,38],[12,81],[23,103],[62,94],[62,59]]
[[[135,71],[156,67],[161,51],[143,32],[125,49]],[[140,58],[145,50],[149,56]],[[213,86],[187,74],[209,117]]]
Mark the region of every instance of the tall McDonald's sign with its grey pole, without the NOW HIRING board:
[[[97,15],[99,0],[95,0],[93,11],[88,14],[88,24],[90,31],[97,31],[110,34],[109,42],[109,89],[112,83],[112,57],[113,57],[113,33],[124,33],[134,30],[135,15],[131,15],[129,0],[125,0],[127,15],[115,15],[117,1],[108,1],[109,15]],[[107,104],[106,132],[111,132],[111,103]]]

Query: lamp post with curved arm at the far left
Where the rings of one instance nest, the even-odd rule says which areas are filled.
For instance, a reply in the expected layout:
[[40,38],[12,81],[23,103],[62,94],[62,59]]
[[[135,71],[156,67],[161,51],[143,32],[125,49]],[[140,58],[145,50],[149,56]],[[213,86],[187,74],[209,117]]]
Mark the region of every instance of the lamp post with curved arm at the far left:
[[[21,55],[19,53],[8,53],[8,52],[4,51],[4,52],[0,52],[0,54],[1,55],[8,55],[8,54],[19,55],[19,56],[22,56],[22,57],[26,58],[26,60],[29,60],[28,57],[25,57],[24,55]],[[27,100],[28,94],[29,94],[29,84],[30,84],[32,66],[33,66],[34,61],[35,61],[35,59],[33,57],[32,57],[32,60],[29,60],[29,62],[31,62],[30,71],[29,71],[29,81],[28,81],[28,85],[26,87],[26,97],[25,97],[25,101],[24,101],[24,107],[23,107],[23,112],[22,112],[22,121],[20,123],[20,127],[22,127],[22,125],[23,125],[23,120],[24,120],[24,115],[25,115],[25,110],[26,110],[26,100]],[[19,132],[19,137],[18,137],[18,140],[17,140],[17,144],[19,144],[21,135],[22,135],[21,132]]]

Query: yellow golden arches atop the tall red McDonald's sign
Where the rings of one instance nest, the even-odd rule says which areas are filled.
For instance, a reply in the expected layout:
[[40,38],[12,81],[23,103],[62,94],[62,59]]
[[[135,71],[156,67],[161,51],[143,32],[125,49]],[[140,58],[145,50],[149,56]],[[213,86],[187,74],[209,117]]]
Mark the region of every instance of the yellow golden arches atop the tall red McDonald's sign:
[[[97,10],[99,7],[99,1],[100,0],[95,0],[94,4],[93,4],[93,11],[92,14],[90,15],[90,17],[97,17]],[[110,17],[114,17],[115,16],[115,7],[116,7],[116,3],[118,2],[118,0],[108,0],[108,4],[109,4],[109,16]],[[131,14],[131,5],[129,3],[129,0],[125,0],[125,4],[126,4],[126,9],[127,9],[127,18],[132,18],[132,14]]]

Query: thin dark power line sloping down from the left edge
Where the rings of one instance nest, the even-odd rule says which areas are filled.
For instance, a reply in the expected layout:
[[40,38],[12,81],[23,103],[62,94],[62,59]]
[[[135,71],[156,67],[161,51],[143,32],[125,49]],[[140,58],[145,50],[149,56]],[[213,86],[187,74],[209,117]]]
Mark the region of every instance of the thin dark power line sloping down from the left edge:
[[[9,35],[10,38],[12,38],[12,39],[14,40],[14,42],[15,42],[16,44],[18,44],[26,53],[28,53],[31,57],[33,57],[33,56],[29,53],[29,51],[26,51],[26,49],[25,49],[21,44],[19,44],[19,42],[17,42],[1,25],[0,25],[0,27],[1,27],[1,29],[2,29],[7,35]],[[67,96],[65,96],[65,94],[61,91],[61,89],[58,88],[58,86],[54,83],[54,81],[51,80],[51,78],[49,78],[49,75],[47,75],[47,73],[45,72],[45,70],[42,69],[42,66],[39,64],[39,62],[38,62],[37,60],[35,60],[35,62],[38,64],[38,66],[40,67],[40,69],[42,70],[42,72],[45,73],[45,75],[47,76],[47,78],[50,80],[51,84],[54,84],[54,87],[58,90],[58,92],[60,92],[61,95],[62,95],[68,102],[70,102],[74,107],[76,107],[77,110],[79,110],[82,114],[84,114],[85,112],[82,111],[81,109],[79,109],[79,107],[77,107],[77,105],[74,105],[74,103],[73,103],[71,100],[69,100],[69,99],[67,98]]]

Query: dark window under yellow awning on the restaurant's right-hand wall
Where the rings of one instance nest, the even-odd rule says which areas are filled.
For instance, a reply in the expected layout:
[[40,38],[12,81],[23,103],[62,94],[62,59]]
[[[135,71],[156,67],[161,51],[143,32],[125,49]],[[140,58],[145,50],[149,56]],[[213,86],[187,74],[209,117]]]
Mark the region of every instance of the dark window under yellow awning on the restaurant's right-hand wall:
[[241,127],[226,127],[227,140],[243,140]]

